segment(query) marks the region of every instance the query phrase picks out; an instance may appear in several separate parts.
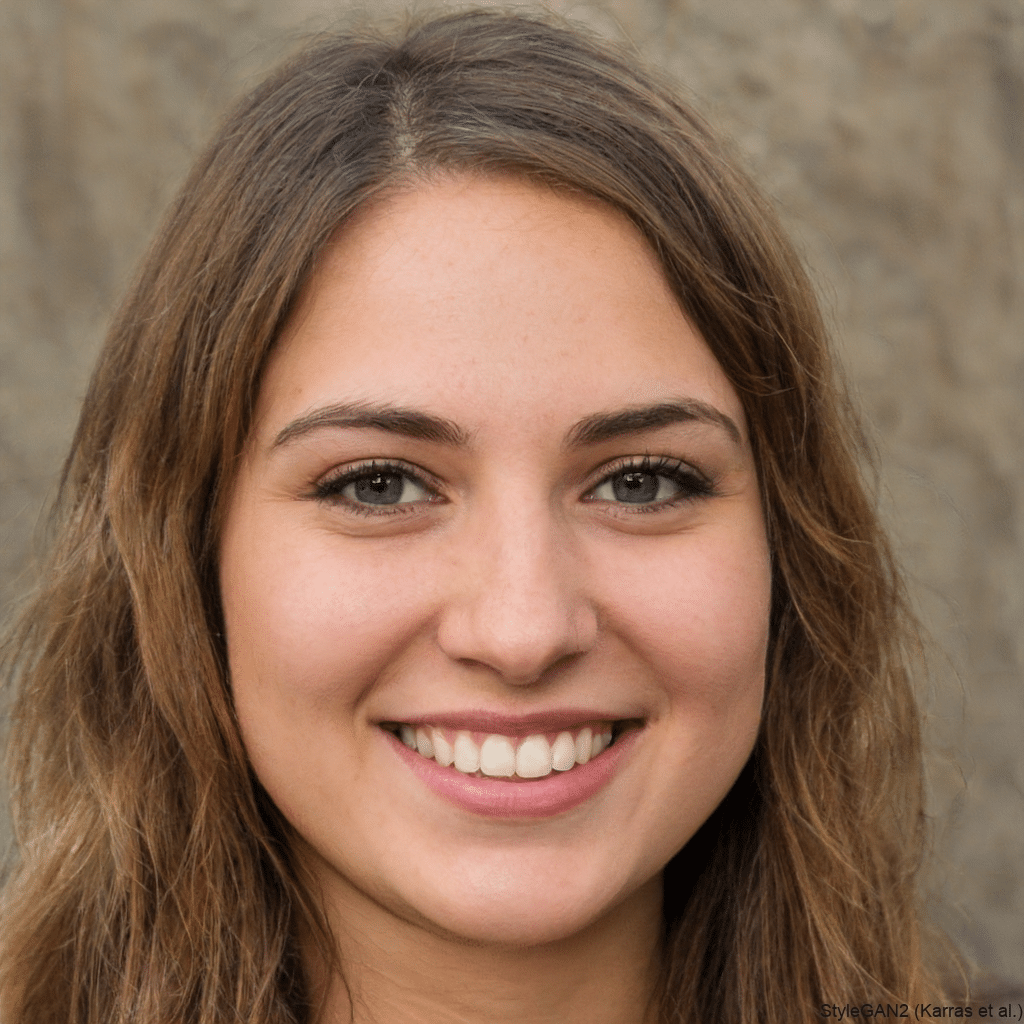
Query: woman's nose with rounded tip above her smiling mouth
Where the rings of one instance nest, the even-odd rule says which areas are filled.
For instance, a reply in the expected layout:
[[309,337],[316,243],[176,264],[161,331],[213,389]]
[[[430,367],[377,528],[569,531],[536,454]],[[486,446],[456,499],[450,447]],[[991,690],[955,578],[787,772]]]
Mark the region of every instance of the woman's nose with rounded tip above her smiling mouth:
[[481,512],[452,568],[437,640],[454,660],[528,685],[595,644],[583,559],[550,514],[508,505]]

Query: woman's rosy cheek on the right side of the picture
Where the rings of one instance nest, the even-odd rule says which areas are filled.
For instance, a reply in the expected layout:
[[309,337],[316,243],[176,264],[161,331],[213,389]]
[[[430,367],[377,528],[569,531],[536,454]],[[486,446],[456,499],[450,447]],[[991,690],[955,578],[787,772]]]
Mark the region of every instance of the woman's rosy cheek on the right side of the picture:
[[652,709],[638,782],[637,856],[654,871],[708,819],[761,722],[770,571],[760,517],[601,554],[620,672]]

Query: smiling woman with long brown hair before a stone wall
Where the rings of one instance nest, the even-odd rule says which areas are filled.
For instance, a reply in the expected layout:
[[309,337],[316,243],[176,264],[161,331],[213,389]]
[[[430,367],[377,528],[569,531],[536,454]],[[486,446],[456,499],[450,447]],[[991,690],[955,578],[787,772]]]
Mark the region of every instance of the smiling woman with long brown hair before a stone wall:
[[545,17],[317,41],[117,316],[8,645],[22,1021],[931,995],[914,637],[808,282]]

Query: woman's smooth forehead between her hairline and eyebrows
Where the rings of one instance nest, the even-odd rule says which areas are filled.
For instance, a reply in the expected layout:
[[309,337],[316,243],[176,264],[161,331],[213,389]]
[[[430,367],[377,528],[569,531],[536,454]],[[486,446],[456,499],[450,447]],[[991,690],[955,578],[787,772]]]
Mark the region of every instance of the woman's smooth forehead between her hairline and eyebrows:
[[[638,229],[509,177],[443,177],[343,225],[280,339],[260,416],[428,406],[496,430],[680,396],[739,400]],[[268,425],[269,426],[269,425]]]

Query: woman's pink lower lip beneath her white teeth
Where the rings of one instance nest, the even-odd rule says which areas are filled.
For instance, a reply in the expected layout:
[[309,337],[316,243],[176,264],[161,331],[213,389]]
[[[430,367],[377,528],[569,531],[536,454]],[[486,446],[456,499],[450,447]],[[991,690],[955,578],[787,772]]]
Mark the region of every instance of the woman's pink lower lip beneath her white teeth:
[[490,818],[549,818],[579,807],[598,794],[629,755],[640,729],[628,729],[593,761],[544,778],[510,781],[480,778],[445,768],[408,748],[393,733],[385,732],[391,745],[426,785],[450,803]]

